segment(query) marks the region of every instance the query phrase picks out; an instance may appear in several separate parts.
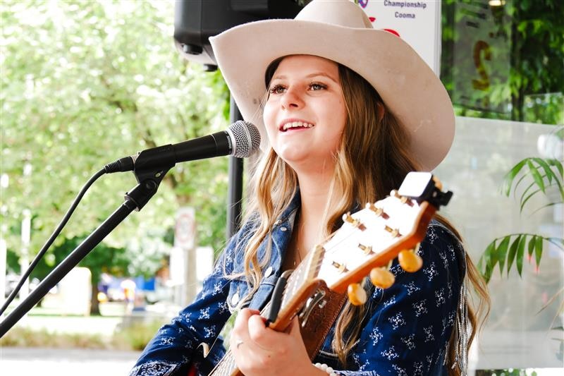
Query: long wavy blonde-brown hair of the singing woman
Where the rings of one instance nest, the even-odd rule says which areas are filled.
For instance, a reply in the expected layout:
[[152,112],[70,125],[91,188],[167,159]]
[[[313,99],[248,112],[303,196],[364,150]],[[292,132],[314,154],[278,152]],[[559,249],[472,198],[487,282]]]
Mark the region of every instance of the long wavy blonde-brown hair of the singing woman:
[[[266,87],[274,71],[283,58],[277,59],[266,71]],[[405,130],[390,111],[386,111],[378,92],[364,78],[338,64],[339,79],[343,88],[348,120],[345,125],[341,145],[334,155],[336,162],[331,181],[329,199],[322,223],[326,224],[324,235],[336,230],[343,212],[347,212],[357,203],[374,202],[384,198],[390,190],[400,186],[409,171],[416,171],[419,166],[409,152],[409,138]],[[244,274],[250,285],[250,298],[258,289],[262,268],[270,259],[267,250],[264,260],[258,260],[259,245],[269,236],[274,222],[288,207],[298,189],[298,177],[293,169],[278,157],[274,150],[268,150],[252,169],[251,189],[248,192],[248,204],[245,210],[248,221],[255,222],[253,234],[245,248]],[[458,233],[445,219],[443,224]],[[270,243],[270,242],[267,242]],[[482,301],[489,304],[484,281],[467,258],[467,281],[474,286]],[[482,310],[480,305],[479,310]],[[477,316],[469,307],[469,319],[472,327],[470,341],[478,327]],[[336,330],[332,347],[343,365],[348,353],[355,346],[355,341],[362,329],[362,320],[366,310],[363,305],[345,303],[336,321]],[[455,362],[455,340],[449,341],[448,362]],[[450,376],[460,375],[460,369],[448,367]]]

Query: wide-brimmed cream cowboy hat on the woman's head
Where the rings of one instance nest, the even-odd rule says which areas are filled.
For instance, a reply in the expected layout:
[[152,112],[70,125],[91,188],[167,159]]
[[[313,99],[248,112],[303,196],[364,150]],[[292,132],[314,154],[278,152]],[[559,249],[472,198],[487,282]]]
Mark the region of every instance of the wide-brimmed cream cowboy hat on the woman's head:
[[376,88],[410,135],[410,150],[431,171],[454,138],[454,112],[441,80],[406,42],[374,30],[360,6],[348,0],[313,0],[293,20],[262,20],[209,38],[218,66],[243,119],[268,139],[260,102],[264,73],[281,56],[321,56],[353,69]]

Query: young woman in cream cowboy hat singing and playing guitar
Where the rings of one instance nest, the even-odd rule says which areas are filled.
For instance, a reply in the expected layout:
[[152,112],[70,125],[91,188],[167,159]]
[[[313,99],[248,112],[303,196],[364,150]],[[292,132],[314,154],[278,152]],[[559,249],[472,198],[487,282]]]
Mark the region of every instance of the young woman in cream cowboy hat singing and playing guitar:
[[[417,252],[418,272],[366,304],[345,303],[312,364],[298,319],[286,332],[259,310],[274,284],[341,225],[341,215],[430,171],[454,133],[439,78],[405,42],[374,30],[347,0],[312,1],[295,20],[240,25],[212,46],[243,117],[262,133],[247,217],[194,303],[159,330],[130,375],[207,375],[223,356],[216,340],[231,312],[231,352],[254,375],[460,375],[477,318],[465,286],[484,284],[441,219]],[[212,346],[202,358],[199,345]]]

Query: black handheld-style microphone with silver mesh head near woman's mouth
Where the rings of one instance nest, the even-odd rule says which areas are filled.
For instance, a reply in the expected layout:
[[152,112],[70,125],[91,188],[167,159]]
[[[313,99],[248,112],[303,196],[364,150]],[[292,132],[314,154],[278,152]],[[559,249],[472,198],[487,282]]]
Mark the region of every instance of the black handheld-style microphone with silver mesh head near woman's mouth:
[[169,144],[138,152],[106,164],[106,174],[142,169],[171,168],[178,162],[194,161],[233,155],[245,158],[254,153],[260,145],[257,127],[248,121],[236,121],[226,131],[204,135],[200,138]]

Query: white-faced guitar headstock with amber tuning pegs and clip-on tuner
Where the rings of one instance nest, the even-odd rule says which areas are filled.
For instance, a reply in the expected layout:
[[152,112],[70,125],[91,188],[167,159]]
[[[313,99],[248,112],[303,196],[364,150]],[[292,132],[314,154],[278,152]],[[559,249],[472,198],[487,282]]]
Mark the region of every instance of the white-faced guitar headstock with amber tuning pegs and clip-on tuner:
[[[323,280],[331,290],[349,290],[351,302],[362,304],[366,298],[362,297],[364,291],[355,292],[360,287],[357,282],[369,274],[373,282],[373,277],[379,278],[376,274],[389,277],[387,268],[378,268],[386,267],[402,251],[407,250],[400,255],[404,269],[419,269],[420,259],[413,250],[423,240],[436,210],[452,196],[451,192],[441,192],[441,188],[431,173],[411,172],[399,190],[393,190],[384,200],[369,202],[354,214],[344,214],[343,226],[314,250],[310,275]],[[357,293],[361,296],[356,297]]]

